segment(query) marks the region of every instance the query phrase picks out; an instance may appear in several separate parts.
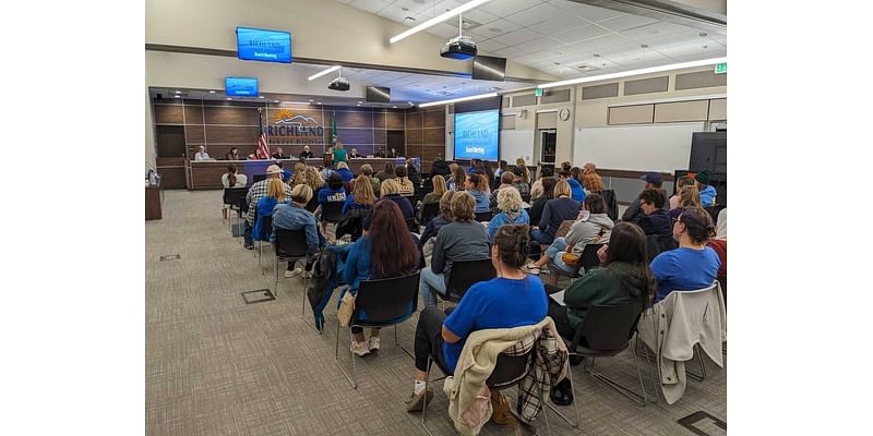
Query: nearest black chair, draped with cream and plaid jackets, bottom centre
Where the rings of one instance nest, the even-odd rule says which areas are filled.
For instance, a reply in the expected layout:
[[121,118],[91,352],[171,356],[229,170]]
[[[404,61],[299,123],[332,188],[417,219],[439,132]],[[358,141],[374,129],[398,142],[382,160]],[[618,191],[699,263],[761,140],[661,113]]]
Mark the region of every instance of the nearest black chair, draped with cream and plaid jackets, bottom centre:
[[[500,355],[498,355],[498,361],[494,364],[494,370],[491,372],[491,375],[485,382],[486,386],[488,386],[488,389],[491,391],[501,391],[511,388],[513,386],[517,386],[519,383],[522,383],[522,380],[527,375],[527,372],[531,370],[530,365],[534,362],[534,351],[536,351],[536,347],[531,348],[530,351],[528,351],[523,355],[510,355],[505,353],[501,353]],[[430,379],[430,368],[432,367],[432,363],[435,363],[436,366],[440,368],[440,371],[443,373],[442,377],[435,378],[433,380]],[[567,371],[569,375],[570,373],[571,372]],[[424,391],[426,391],[424,404],[421,409],[421,426],[424,427],[424,431],[428,432],[428,434],[431,436],[433,436],[433,434],[430,432],[430,428],[428,428],[427,424],[424,424],[424,419],[427,417],[428,413],[427,389],[431,382],[439,382],[441,379],[444,379],[449,374],[450,372],[447,368],[445,368],[442,364],[440,364],[439,361],[433,360],[431,355],[428,355],[428,371],[427,375],[424,376]],[[540,401],[543,404],[547,404],[548,400],[541,397],[542,396],[541,391],[539,393],[540,393]],[[518,416],[516,411],[510,410],[510,412],[518,420],[519,423],[530,427],[533,431],[536,432],[535,434],[539,434],[539,431],[530,423],[525,422],[521,416]],[[552,432],[551,427],[549,427],[549,416],[545,409],[542,410],[542,417],[546,421],[546,431],[549,435],[551,435]],[[576,421],[578,421],[578,419]]]

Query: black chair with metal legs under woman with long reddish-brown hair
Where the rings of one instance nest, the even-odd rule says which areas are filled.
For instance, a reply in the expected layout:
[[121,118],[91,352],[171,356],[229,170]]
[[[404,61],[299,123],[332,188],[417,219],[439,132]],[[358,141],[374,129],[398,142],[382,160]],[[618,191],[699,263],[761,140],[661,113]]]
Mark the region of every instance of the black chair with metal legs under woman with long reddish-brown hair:
[[[408,276],[392,277],[387,279],[363,280],[358,287],[355,298],[355,312],[351,314],[349,327],[391,327],[394,326],[394,344],[406,354],[415,355],[397,341],[397,324],[409,319],[418,312],[418,281],[421,271]],[[409,307],[412,310],[409,311]],[[361,313],[367,314],[367,319],[360,319]],[[355,377],[355,353],[351,355],[351,375],[346,373],[339,364],[339,319],[336,320],[336,347],[334,348],[334,362],[346,376],[354,389],[358,388]]]

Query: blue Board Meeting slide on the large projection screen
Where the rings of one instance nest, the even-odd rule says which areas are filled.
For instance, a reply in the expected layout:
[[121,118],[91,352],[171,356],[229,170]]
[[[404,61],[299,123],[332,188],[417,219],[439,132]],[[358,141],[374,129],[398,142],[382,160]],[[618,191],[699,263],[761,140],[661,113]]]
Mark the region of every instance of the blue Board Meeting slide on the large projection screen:
[[498,160],[500,110],[455,113],[455,159]]

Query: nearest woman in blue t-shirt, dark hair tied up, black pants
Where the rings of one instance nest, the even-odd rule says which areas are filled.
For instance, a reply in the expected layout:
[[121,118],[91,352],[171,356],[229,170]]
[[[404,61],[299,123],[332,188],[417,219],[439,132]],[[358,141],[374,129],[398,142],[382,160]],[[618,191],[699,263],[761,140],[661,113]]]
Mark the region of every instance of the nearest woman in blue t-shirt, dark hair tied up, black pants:
[[[459,193],[455,198],[458,197],[469,195]],[[438,240],[454,225],[444,227]],[[471,225],[482,229],[475,222]],[[421,312],[416,326],[416,376],[412,395],[407,400],[408,411],[423,410],[426,399],[429,402],[433,397],[432,391],[424,389],[428,356],[453,374],[464,343],[473,331],[534,325],[546,317],[548,299],[542,282],[521,269],[527,258],[527,226],[500,228],[489,250],[498,277],[471,286],[449,316],[433,305]],[[434,251],[434,264],[438,254],[439,251]]]

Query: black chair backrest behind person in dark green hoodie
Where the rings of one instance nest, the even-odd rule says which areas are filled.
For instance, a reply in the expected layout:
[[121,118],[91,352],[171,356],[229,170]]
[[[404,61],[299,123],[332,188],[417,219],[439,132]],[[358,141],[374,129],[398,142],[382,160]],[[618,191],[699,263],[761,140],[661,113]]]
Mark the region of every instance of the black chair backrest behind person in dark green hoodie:
[[[643,307],[641,302],[631,302],[618,305],[597,304],[588,308],[581,328],[588,348],[599,351],[623,349],[634,334]],[[573,339],[573,350],[579,338]]]

